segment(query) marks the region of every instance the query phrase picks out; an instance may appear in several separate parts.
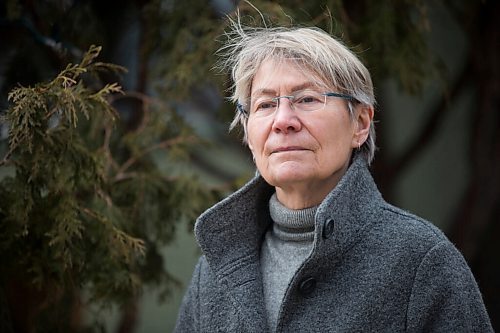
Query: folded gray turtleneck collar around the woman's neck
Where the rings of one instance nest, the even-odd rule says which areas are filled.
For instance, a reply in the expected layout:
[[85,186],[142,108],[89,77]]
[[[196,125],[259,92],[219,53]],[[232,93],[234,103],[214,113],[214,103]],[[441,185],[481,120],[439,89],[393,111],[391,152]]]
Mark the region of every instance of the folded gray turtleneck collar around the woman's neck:
[[289,209],[281,204],[274,193],[269,199],[269,213],[273,220],[273,233],[281,240],[312,242],[314,240],[314,216],[318,206],[305,209]]

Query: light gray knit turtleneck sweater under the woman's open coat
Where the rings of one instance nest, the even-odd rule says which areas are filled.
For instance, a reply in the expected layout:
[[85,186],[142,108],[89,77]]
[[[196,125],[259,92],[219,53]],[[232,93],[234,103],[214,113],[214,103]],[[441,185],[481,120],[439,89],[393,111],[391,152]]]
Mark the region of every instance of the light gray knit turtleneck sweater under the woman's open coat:
[[272,331],[276,328],[286,288],[312,250],[317,208],[288,209],[278,201],[276,193],[269,200],[274,223],[262,243],[260,265],[267,319]]

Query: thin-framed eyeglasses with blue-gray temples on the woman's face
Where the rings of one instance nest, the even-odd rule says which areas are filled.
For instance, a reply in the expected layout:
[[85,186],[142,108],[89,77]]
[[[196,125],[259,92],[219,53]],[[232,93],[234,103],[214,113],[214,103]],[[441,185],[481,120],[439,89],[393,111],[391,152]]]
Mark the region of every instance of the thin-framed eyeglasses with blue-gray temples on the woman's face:
[[[284,95],[277,97],[259,97],[254,102],[251,103],[250,113],[259,115],[269,115],[278,110],[280,105],[280,100],[282,98],[288,99],[290,102],[290,107],[297,111],[317,111],[321,110],[326,105],[327,97],[338,97],[343,98],[352,102],[356,102],[356,98],[351,95],[325,92],[320,93],[314,90],[302,90],[297,92],[295,95]],[[249,115],[248,111],[241,105],[237,104],[238,111],[245,115]]]

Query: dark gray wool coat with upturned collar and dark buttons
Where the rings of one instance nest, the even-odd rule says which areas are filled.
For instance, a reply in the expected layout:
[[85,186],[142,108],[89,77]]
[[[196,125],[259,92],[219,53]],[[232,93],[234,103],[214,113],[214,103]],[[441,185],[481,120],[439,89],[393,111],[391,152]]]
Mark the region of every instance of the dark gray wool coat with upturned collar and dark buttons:
[[[203,252],[175,332],[269,332],[260,245],[274,188],[256,177],[202,214]],[[311,255],[276,332],[493,332],[462,255],[429,222],[386,203],[359,156],[316,213]]]

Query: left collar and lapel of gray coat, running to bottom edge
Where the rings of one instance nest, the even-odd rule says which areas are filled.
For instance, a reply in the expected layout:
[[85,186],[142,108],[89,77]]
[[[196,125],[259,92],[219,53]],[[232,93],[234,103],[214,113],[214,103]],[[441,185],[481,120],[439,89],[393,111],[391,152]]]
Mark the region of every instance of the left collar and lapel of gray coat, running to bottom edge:
[[274,188],[256,177],[202,214],[195,235],[238,314],[238,330],[267,332],[260,270],[260,244],[270,225]]

